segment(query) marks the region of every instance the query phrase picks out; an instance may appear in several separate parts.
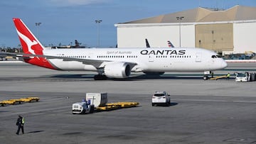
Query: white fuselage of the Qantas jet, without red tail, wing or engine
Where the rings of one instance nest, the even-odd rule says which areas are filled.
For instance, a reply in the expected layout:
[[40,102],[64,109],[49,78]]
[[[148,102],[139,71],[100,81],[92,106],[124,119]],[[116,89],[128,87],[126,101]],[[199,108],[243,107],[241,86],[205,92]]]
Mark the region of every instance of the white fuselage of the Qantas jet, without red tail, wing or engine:
[[[201,48],[82,48],[43,50],[43,55],[80,60],[134,63],[132,72],[203,72],[220,70],[227,63],[217,54]],[[97,71],[93,65],[78,60],[48,59],[57,70]]]

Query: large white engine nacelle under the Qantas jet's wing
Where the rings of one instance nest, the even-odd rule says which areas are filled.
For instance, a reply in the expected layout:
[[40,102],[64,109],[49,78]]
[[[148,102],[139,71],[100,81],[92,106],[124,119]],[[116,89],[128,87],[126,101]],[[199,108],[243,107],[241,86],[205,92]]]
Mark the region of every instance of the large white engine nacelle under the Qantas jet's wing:
[[131,74],[131,66],[126,62],[112,62],[105,65],[104,73],[110,78],[126,78]]

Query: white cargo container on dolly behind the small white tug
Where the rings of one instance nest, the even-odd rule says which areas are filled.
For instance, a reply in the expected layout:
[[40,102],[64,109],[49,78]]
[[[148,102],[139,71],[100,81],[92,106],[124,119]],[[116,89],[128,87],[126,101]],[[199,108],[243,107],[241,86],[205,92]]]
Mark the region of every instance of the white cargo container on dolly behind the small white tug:
[[86,93],[86,100],[90,101],[95,107],[107,104],[107,93]]

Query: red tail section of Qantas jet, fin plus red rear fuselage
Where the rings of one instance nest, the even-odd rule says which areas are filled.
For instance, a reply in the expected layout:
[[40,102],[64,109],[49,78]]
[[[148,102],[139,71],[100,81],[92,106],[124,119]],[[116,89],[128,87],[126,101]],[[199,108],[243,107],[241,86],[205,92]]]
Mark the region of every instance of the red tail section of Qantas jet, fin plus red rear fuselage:
[[[46,67],[49,69],[55,70],[56,68],[53,65],[50,65],[50,62],[46,57],[42,57],[43,50],[45,49],[43,45],[39,42],[33,33],[28,29],[28,27],[21,21],[20,18],[13,18],[16,31],[18,33],[18,38],[21,41],[21,46],[25,54],[30,54],[30,56],[23,56],[23,60],[32,65],[38,65],[40,67]],[[34,56],[33,56],[34,55]]]

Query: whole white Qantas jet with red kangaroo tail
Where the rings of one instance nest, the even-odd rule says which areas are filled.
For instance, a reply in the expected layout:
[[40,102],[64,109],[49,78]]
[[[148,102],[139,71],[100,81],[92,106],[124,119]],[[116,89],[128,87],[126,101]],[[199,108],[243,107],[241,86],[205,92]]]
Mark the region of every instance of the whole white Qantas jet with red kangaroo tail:
[[13,21],[24,52],[16,57],[52,70],[94,71],[98,73],[95,80],[127,78],[131,72],[209,72],[227,67],[215,52],[201,48],[48,49],[20,18]]

